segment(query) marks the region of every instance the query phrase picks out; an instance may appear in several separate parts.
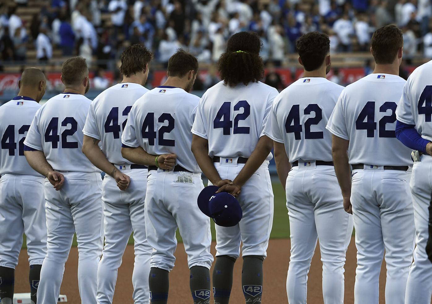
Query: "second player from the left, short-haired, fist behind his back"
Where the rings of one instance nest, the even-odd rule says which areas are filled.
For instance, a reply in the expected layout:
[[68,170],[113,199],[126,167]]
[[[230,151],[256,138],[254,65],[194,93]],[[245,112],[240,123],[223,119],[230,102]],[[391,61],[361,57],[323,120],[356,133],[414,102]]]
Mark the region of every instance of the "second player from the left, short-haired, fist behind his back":
[[[24,141],[30,166],[46,176],[45,212],[48,252],[41,269],[38,302],[57,303],[73,234],[78,241],[78,287],[83,304],[96,303],[96,275],[102,254],[101,175],[81,152],[91,100],[86,60],[64,61],[64,93],[36,112]],[[54,186],[54,187],[53,187]]]

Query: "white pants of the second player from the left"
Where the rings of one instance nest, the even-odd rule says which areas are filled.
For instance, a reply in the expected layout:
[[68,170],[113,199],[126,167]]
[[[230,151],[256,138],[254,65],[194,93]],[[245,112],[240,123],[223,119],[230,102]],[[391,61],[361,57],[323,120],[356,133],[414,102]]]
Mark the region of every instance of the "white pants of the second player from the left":
[[76,233],[81,303],[96,304],[96,278],[103,244],[101,175],[59,172],[65,178],[60,191],[55,191],[45,180],[48,252],[41,269],[38,303],[57,304],[64,263]]

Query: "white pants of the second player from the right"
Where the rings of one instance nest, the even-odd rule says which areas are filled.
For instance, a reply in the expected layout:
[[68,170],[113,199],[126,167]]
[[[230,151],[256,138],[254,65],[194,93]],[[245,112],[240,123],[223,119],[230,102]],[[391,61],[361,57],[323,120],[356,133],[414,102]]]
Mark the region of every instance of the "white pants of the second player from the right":
[[378,304],[378,280],[385,250],[385,302],[403,304],[414,250],[411,174],[370,167],[353,170],[351,204],[357,247],[354,303]]

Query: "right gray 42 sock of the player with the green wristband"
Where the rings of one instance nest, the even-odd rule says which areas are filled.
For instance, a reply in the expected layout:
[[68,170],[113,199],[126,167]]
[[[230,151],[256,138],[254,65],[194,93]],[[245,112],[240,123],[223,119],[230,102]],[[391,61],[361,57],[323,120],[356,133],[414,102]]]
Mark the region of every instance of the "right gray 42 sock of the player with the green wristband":
[[210,270],[202,266],[191,268],[189,280],[194,304],[210,304]]

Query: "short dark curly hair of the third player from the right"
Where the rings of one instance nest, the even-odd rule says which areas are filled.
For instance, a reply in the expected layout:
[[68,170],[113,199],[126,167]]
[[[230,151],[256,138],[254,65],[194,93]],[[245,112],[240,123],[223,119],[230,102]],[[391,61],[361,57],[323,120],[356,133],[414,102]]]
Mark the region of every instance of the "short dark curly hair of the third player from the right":
[[309,32],[297,39],[295,48],[305,70],[313,71],[321,67],[330,52],[330,39],[324,33]]

